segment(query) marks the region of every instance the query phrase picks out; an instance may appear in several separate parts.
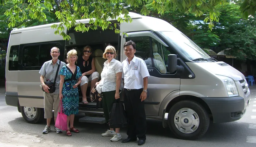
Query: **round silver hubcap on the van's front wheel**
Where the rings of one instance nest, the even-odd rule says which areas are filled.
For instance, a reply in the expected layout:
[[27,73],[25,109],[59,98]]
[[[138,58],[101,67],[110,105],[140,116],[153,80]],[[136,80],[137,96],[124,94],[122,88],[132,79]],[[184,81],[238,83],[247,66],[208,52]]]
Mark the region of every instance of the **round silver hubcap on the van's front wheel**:
[[195,132],[199,127],[199,122],[198,114],[190,108],[182,108],[174,116],[176,128],[185,134]]

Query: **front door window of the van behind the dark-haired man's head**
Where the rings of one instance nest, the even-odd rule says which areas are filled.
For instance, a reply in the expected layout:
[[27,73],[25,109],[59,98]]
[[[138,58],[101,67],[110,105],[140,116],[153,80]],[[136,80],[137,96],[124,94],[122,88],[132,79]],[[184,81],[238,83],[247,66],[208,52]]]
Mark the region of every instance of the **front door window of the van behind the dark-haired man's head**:
[[151,61],[151,49],[150,49],[150,37],[128,37],[126,41],[134,41],[136,43],[136,52],[135,56],[141,58],[147,64],[147,67],[152,67]]

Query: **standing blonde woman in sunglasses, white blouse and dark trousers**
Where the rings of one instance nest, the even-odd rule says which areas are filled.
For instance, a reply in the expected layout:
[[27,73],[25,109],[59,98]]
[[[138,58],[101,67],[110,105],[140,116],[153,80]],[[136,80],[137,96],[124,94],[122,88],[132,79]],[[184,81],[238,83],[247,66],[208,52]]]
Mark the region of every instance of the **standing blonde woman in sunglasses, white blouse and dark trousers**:
[[[96,85],[98,83],[102,84],[102,107],[106,122],[109,121],[109,112],[112,108],[112,104],[116,99],[120,98],[119,87],[122,78],[122,64],[120,61],[115,60],[116,56],[116,49],[113,46],[107,46],[105,52],[103,53],[103,58],[107,59],[107,61],[104,63],[104,68],[101,72],[101,80],[96,83]],[[116,131],[114,131],[113,128],[110,128],[110,130],[107,130],[101,135],[103,137],[114,136],[110,139],[110,141],[121,140],[122,136],[119,132],[120,128],[116,128],[115,130]]]

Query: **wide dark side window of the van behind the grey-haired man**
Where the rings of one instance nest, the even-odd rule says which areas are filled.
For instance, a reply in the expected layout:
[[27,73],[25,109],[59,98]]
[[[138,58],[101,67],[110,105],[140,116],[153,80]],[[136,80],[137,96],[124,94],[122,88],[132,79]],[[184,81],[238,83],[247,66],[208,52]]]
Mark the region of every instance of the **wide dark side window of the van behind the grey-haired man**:
[[60,43],[25,45],[23,48],[23,67],[38,67],[52,59],[51,48],[60,48]]

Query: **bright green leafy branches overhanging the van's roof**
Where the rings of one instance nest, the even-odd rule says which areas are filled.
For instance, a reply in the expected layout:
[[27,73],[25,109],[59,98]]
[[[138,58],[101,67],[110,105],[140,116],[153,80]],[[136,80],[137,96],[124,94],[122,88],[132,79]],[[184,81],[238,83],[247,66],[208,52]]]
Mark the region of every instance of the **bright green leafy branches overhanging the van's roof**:
[[[76,31],[86,32],[89,29],[115,29],[115,33],[120,30],[110,24],[108,18],[116,19],[117,22],[131,22],[129,7],[140,7],[139,12],[148,15],[151,10],[156,10],[157,14],[163,15],[165,12],[179,11],[180,13],[193,14],[200,17],[204,14],[204,22],[209,22],[209,28],[213,27],[213,21],[218,21],[219,12],[215,9],[218,4],[225,3],[225,0],[1,0],[0,5],[13,3],[13,7],[6,10],[5,15],[9,17],[8,27],[14,27],[17,22],[22,23],[29,19],[47,21],[45,10],[55,11],[55,16],[60,22],[59,25],[52,25],[57,29],[55,34],[60,34],[64,39],[70,37],[64,32],[75,27]],[[124,5],[128,6],[125,7]],[[27,15],[28,14],[28,15]],[[123,15],[124,19],[120,16]],[[30,17],[30,18],[29,18]],[[89,18],[89,24],[77,23],[76,20]]]

